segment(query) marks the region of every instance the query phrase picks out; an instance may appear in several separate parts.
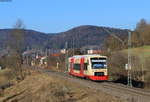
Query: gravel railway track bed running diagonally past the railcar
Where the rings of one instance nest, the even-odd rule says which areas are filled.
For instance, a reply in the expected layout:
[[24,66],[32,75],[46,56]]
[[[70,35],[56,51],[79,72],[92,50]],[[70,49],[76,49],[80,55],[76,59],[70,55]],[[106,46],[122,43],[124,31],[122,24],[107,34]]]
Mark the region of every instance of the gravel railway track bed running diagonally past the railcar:
[[112,82],[94,82],[73,77],[67,73],[55,72],[48,69],[33,68],[48,75],[60,77],[70,82],[78,83],[85,87],[89,87],[96,91],[102,91],[112,96],[127,100],[128,102],[150,102],[150,91],[143,89],[127,87],[126,85],[112,83]]

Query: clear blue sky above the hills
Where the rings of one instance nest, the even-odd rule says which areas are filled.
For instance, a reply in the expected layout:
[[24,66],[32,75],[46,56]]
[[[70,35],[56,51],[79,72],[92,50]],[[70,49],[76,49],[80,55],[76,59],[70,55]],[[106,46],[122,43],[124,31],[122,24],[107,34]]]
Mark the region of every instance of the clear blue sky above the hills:
[[134,29],[150,21],[150,0],[12,0],[0,2],[0,29],[22,19],[26,29],[46,33],[80,25]]

